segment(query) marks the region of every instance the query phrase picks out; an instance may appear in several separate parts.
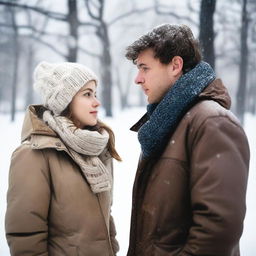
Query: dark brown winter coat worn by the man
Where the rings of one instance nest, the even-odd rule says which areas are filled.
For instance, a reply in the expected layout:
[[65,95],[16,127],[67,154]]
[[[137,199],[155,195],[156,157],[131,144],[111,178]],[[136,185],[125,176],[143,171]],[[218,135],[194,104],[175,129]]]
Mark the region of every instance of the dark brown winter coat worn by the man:
[[[238,256],[249,169],[246,135],[219,79],[179,122],[160,158],[141,159],[128,256]],[[145,122],[145,116],[134,130]]]

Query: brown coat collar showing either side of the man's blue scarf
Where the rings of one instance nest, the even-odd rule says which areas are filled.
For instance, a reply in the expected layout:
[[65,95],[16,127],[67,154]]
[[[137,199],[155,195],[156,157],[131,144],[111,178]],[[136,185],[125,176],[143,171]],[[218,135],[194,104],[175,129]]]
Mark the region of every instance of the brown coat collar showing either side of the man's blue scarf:
[[[231,98],[221,79],[215,79],[211,82],[200,94],[199,101],[214,100],[226,109],[231,107]],[[137,132],[140,127],[149,120],[148,114],[145,113],[139,121],[137,121],[131,128],[131,131]]]

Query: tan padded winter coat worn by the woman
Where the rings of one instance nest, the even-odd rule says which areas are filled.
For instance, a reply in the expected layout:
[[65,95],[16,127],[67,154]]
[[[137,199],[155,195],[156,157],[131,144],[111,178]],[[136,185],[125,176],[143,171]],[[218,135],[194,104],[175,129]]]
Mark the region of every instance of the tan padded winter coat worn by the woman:
[[[112,256],[118,251],[111,192],[92,193],[55,132],[26,114],[12,155],[6,237],[16,256]],[[103,159],[112,166],[111,159]]]

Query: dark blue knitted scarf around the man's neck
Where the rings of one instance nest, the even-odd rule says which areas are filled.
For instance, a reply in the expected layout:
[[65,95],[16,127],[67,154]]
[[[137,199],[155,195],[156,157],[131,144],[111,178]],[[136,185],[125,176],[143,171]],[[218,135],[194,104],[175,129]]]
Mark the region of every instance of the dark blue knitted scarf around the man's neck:
[[144,157],[155,156],[164,149],[181,117],[214,79],[215,73],[211,66],[200,62],[174,83],[159,104],[148,105],[149,120],[138,132]]

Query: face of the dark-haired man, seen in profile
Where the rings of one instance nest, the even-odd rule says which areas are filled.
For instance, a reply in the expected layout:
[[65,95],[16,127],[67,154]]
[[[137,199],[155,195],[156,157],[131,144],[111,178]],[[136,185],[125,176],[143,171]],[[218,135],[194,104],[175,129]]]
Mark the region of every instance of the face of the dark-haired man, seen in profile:
[[159,59],[154,58],[154,51],[149,48],[138,55],[136,65],[138,74],[135,83],[141,85],[148,96],[148,103],[160,102],[176,80],[172,71],[172,61],[169,64],[162,64]]

